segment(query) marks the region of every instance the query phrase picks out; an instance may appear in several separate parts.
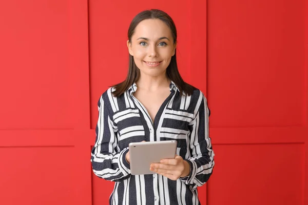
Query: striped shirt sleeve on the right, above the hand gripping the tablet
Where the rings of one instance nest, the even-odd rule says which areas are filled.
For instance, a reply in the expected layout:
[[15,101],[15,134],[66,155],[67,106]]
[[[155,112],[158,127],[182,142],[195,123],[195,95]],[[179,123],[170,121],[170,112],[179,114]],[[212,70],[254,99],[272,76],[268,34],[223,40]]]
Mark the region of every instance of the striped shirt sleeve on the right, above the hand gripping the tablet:
[[206,183],[213,172],[215,165],[214,152],[211,146],[211,140],[208,136],[208,117],[209,109],[203,93],[200,107],[197,114],[189,124],[191,126],[189,151],[191,157],[184,159],[190,165],[190,173],[186,177],[180,177],[186,185],[193,186],[193,189]]

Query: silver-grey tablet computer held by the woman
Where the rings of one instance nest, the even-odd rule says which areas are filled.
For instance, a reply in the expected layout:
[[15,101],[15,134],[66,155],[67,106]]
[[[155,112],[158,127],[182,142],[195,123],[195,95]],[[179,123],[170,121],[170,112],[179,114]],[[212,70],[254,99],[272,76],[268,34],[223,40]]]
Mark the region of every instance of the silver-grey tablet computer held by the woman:
[[156,174],[150,171],[151,163],[160,162],[161,159],[175,158],[176,153],[177,140],[130,142],[130,173],[132,175]]

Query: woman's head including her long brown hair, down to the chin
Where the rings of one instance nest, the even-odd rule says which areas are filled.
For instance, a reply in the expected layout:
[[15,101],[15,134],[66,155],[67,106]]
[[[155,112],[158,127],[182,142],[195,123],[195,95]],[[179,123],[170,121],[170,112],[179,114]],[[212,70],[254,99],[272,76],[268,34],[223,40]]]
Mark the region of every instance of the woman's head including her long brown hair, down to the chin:
[[142,74],[150,76],[166,75],[189,95],[180,76],[176,60],[177,29],[172,18],[164,11],[152,9],[137,14],[128,29],[127,46],[129,70],[126,80],[115,85],[113,94],[119,96]]

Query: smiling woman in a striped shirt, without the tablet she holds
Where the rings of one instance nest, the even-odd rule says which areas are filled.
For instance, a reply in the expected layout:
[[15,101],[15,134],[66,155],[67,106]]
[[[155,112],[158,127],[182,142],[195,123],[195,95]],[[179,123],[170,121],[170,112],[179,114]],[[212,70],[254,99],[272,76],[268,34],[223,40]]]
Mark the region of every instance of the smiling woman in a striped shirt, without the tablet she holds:
[[[177,31],[161,10],[147,10],[128,29],[125,81],[99,99],[91,152],[95,175],[115,181],[110,204],[200,204],[197,187],[214,168],[203,93],[181,78]],[[176,139],[177,156],[152,163],[157,174],[131,175],[128,144]]]

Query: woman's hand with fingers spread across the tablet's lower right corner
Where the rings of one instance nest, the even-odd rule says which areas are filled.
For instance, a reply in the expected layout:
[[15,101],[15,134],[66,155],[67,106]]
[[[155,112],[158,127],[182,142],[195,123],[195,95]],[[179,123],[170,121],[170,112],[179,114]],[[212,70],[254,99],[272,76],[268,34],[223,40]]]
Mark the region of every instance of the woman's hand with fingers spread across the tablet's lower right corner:
[[188,176],[190,166],[181,156],[176,155],[174,159],[162,159],[160,163],[151,163],[150,171],[161,174],[171,180]]

